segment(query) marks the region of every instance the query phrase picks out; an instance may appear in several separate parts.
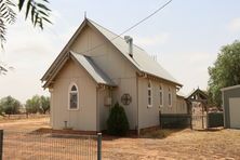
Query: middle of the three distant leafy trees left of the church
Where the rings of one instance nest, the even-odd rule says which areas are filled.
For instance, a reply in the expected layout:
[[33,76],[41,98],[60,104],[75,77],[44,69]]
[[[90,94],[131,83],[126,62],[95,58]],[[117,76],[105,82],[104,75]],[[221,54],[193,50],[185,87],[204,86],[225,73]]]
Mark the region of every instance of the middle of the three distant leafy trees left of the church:
[[27,114],[37,114],[40,110],[40,96],[39,95],[35,95],[32,96],[30,99],[27,99],[26,102],[26,112]]

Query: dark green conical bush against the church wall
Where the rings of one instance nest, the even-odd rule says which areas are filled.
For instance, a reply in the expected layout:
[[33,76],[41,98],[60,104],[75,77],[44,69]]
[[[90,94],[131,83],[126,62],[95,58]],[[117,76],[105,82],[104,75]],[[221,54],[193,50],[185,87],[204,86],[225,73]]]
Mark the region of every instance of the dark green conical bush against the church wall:
[[110,135],[125,135],[129,131],[129,121],[124,108],[118,103],[110,109],[107,120],[107,131]]

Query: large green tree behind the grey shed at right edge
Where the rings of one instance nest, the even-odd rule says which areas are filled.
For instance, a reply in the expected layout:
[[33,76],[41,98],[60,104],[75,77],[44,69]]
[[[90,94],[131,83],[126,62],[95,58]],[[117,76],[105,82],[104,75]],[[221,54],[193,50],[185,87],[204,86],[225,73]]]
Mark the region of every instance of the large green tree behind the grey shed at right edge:
[[210,101],[221,107],[221,89],[240,84],[240,41],[222,48],[209,75]]

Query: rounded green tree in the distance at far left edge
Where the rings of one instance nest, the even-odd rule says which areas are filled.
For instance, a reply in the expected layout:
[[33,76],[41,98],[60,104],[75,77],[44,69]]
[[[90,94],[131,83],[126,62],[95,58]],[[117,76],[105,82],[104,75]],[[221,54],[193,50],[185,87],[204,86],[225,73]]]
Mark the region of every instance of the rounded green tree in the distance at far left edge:
[[6,96],[0,101],[0,110],[2,114],[14,115],[19,112],[21,103],[12,96]]

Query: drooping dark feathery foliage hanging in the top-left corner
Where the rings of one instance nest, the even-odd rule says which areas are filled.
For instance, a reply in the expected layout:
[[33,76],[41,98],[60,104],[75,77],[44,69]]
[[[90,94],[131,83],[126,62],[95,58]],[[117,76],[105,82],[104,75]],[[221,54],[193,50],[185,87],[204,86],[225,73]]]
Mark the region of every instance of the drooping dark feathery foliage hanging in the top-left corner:
[[[49,16],[51,10],[48,8],[48,0],[0,0],[0,41],[1,48],[6,41],[5,34],[8,25],[12,25],[16,21],[16,10],[25,12],[25,19],[30,17],[34,27],[38,26],[43,29],[44,23],[50,23]],[[6,72],[8,69],[0,65],[0,75]]]

